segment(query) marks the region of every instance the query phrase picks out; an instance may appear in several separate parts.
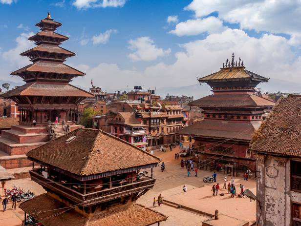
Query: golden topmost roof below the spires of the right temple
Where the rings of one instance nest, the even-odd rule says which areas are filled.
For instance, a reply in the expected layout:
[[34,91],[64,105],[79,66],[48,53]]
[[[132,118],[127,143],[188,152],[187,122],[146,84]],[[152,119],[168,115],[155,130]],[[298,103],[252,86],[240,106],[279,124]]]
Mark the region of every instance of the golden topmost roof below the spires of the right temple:
[[209,81],[229,81],[237,79],[255,79],[261,82],[268,82],[267,78],[261,75],[255,74],[254,72],[245,70],[244,67],[232,67],[232,68],[221,68],[220,71],[215,72],[211,75],[199,78],[199,82],[209,82]]

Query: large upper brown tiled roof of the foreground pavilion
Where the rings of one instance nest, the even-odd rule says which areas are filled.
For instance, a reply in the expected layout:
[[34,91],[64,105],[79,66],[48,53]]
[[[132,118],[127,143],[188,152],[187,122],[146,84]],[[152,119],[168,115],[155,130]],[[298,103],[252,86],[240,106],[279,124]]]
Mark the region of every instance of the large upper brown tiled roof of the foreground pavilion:
[[[73,136],[75,138],[71,142],[66,142]],[[26,155],[79,176],[160,162],[159,158],[126,141],[104,131],[87,128],[76,129],[30,150]]]

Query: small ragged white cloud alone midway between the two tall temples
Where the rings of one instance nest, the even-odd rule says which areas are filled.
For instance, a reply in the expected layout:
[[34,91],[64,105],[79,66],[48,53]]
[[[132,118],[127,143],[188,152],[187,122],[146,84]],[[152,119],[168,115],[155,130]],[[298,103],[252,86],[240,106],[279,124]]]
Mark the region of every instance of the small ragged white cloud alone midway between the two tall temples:
[[150,37],[140,37],[129,41],[129,49],[133,52],[128,55],[132,61],[153,61],[171,53],[171,49],[158,48]]

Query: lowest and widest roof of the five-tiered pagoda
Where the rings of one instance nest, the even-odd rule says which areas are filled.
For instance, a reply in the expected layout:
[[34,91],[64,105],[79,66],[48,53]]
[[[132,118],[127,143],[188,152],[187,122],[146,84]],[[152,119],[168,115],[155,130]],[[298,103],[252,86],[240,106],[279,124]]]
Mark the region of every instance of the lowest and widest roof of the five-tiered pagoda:
[[93,94],[66,83],[29,82],[4,93],[1,97],[51,96],[51,97],[94,97]]

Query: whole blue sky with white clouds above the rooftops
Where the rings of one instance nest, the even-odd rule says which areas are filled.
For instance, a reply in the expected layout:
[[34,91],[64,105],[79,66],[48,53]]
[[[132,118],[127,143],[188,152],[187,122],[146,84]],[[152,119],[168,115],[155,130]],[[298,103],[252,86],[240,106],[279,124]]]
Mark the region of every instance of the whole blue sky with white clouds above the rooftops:
[[19,54],[48,10],[63,23],[74,84],[117,89],[188,86],[232,52],[248,70],[301,84],[301,0],[0,0],[0,79],[29,64]]

